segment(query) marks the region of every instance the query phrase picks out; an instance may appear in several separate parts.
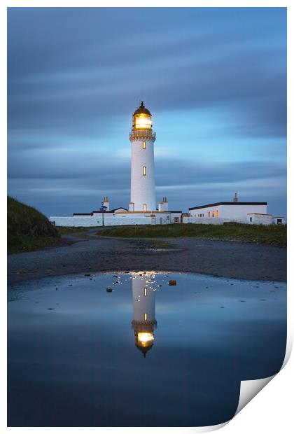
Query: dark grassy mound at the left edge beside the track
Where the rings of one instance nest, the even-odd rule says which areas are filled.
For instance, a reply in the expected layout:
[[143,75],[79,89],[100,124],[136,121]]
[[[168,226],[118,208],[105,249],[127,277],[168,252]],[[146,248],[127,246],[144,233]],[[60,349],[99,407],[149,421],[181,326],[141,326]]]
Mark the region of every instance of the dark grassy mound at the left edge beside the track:
[[33,251],[60,244],[57,229],[36,209],[7,197],[8,253]]

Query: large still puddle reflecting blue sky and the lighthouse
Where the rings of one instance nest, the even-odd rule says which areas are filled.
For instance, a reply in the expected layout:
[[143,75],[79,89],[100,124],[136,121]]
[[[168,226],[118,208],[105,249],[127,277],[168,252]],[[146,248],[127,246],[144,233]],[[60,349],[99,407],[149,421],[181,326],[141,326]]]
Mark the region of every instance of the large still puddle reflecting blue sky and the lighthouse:
[[223,423],[286,350],[285,283],[95,274],[8,299],[8,426]]

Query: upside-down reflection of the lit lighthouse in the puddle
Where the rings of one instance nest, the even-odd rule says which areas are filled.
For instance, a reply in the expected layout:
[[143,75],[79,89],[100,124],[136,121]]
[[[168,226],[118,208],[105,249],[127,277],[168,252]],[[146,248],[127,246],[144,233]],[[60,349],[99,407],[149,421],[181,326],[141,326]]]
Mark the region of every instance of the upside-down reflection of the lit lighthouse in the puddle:
[[154,344],[155,319],[155,281],[153,274],[132,273],[133,321],[135,345],[143,356]]

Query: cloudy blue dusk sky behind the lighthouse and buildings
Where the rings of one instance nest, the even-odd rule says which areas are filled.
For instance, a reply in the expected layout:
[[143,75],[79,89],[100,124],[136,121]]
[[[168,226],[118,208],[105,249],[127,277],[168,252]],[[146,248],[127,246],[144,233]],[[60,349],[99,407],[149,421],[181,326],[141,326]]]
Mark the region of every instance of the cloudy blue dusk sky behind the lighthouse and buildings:
[[8,8],[8,194],[127,208],[141,100],[158,202],[286,215],[286,8]]

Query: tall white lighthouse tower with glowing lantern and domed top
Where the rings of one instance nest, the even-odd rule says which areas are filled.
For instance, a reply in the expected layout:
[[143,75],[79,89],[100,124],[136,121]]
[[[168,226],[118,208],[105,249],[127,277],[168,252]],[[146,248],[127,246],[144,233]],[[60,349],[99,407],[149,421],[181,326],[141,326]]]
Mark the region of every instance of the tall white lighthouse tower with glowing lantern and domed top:
[[151,113],[141,102],[133,114],[132,132],[132,172],[131,202],[129,211],[150,212],[156,210],[154,142]]

